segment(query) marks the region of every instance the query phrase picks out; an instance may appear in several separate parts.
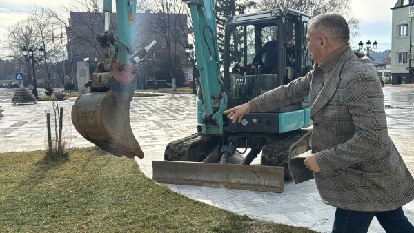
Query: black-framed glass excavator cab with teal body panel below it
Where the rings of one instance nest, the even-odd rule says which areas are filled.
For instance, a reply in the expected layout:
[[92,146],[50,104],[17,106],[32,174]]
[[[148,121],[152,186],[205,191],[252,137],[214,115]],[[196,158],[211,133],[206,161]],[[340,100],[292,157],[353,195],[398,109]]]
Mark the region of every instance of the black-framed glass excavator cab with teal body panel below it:
[[[286,85],[311,70],[311,54],[306,48],[309,20],[306,14],[288,8],[228,19],[224,52],[224,79],[229,88],[228,108]],[[262,58],[260,52],[270,43],[273,45],[266,49]],[[257,55],[260,55],[260,59],[257,59]],[[264,63],[262,59],[265,59]],[[225,121],[224,130],[275,134],[290,132],[310,123],[307,107],[308,99],[304,99],[265,113],[248,114],[246,121],[255,119],[256,123],[240,125]],[[280,121],[286,115],[302,117],[296,118],[293,124],[287,124]]]

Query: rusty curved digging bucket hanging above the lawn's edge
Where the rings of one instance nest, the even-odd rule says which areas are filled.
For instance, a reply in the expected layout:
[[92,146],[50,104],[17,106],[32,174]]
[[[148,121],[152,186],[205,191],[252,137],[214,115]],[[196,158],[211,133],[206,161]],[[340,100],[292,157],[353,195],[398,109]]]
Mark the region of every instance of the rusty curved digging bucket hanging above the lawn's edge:
[[134,92],[86,92],[72,107],[72,122],[85,139],[115,156],[144,157],[130,125]]

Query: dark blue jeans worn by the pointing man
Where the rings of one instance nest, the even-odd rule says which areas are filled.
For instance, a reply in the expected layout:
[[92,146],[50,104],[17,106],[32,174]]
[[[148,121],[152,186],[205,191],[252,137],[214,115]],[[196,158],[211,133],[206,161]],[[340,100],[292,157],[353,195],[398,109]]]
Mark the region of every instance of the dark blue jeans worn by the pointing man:
[[337,208],[332,233],[366,233],[374,216],[387,233],[414,233],[402,207],[384,212],[360,212]]

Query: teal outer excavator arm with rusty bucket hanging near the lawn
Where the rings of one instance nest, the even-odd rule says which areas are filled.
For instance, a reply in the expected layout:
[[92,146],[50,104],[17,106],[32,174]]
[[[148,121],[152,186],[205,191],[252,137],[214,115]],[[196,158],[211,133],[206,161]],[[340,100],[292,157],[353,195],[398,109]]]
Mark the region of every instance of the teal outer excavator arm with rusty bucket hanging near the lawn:
[[116,0],[117,33],[110,32],[112,0],[104,0],[105,32],[97,35],[103,63],[99,63],[72,107],[72,122],[85,139],[115,156],[144,157],[130,125],[130,101],[134,95],[131,65],[135,43],[135,1]]

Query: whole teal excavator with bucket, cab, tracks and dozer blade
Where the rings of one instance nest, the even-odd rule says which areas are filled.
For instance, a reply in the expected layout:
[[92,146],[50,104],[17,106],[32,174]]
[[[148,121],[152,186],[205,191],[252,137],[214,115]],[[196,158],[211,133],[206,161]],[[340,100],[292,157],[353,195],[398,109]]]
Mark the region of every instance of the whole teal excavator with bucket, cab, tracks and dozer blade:
[[[269,90],[287,85],[311,70],[306,48],[310,17],[289,8],[230,17],[225,25],[224,53],[217,45],[213,0],[183,0],[193,21],[197,91],[197,133],[172,141],[163,161],[152,161],[152,179],[159,183],[206,185],[266,192],[283,192],[291,179],[288,161],[311,149],[307,99],[268,112],[250,113],[232,123],[224,110],[246,103]],[[134,94],[133,64],[148,52],[132,51],[135,3],[117,0],[117,33],[97,35],[105,61],[90,80],[90,92],[72,108],[77,131],[115,156],[142,158],[132,134],[129,108]],[[111,0],[104,1],[106,25]],[[268,70],[254,59],[268,41],[275,40],[276,61]],[[220,56],[224,70],[220,69]],[[255,63],[253,63],[255,61]],[[258,62],[257,62],[258,61]],[[259,163],[254,163],[259,156]],[[252,164],[253,163],[253,164]]]

